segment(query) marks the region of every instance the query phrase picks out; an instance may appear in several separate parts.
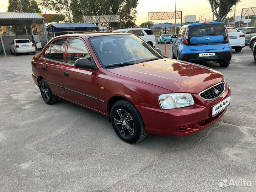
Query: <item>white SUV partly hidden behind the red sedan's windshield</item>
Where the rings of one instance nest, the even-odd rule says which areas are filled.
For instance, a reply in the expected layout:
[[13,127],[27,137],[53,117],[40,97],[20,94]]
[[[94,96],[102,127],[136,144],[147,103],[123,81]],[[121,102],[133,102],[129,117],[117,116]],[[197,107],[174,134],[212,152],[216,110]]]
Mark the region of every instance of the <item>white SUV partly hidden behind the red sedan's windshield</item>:
[[150,44],[152,47],[155,47],[155,36],[151,29],[148,28],[128,28],[128,29],[120,29],[114,30],[112,32],[119,33],[132,33],[137,35],[139,38],[143,39],[145,42]]

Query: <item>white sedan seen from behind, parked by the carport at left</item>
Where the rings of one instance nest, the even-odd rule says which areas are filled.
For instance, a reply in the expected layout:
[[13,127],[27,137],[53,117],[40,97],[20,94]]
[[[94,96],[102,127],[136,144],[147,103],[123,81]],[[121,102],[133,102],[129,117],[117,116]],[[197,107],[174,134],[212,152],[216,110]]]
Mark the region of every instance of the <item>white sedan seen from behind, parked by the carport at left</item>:
[[34,43],[29,39],[14,39],[9,43],[11,54],[17,55],[18,53],[33,53],[36,54]]

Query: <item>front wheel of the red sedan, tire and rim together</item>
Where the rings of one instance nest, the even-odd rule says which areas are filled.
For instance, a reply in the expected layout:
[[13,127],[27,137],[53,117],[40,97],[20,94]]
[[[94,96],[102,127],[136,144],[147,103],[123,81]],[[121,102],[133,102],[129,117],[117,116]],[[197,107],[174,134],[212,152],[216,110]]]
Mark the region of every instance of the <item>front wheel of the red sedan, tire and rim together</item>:
[[118,137],[127,143],[138,143],[147,135],[139,111],[127,100],[117,101],[113,105],[110,118]]

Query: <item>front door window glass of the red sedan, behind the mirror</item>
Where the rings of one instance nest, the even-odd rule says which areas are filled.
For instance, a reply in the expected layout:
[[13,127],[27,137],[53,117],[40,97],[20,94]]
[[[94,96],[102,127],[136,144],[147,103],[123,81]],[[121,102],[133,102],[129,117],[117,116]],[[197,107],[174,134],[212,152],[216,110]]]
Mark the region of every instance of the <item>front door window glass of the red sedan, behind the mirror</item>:
[[91,55],[89,54],[84,42],[81,39],[75,38],[69,39],[66,58],[66,62],[73,65],[79,58],[86,58],[91,61]]

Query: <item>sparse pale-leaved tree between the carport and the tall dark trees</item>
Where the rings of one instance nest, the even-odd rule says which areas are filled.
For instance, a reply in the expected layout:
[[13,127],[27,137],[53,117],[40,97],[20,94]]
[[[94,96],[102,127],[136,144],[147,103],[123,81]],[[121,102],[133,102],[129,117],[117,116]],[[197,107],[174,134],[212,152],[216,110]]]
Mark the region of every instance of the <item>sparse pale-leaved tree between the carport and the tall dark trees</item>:
[[57,14],[65,15],[64,22],[73,23],[71,0],[41,0],[40,5],[50,11],[54,11]]

